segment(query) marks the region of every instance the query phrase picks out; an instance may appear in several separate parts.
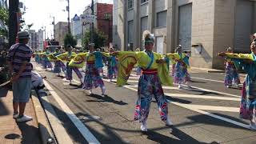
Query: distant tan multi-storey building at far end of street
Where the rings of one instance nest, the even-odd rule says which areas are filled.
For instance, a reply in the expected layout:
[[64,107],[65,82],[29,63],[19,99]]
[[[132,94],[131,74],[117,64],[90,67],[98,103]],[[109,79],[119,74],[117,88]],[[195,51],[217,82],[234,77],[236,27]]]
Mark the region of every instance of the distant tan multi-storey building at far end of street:
[[54,39],[59,42],[60,46],[64,46],[64,38],[68,33],[68,22],[58,22],[54,25]]

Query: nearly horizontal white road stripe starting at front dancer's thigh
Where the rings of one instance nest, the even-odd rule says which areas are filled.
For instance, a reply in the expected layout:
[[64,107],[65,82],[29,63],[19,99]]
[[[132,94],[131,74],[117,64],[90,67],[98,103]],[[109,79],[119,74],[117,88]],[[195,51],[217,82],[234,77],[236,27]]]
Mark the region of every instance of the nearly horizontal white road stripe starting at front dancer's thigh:
[[216,96],[208,96],[208,95],[195,95],[195,94],[170,94],[165,93],[167,96],[170,97],[177,97],[177,98],[202,98],[202,99],[218,99],[218,100],[225,100],[225,101],[237,101],[239,102],[241,98],[227,98],[227,97],[216,97]]

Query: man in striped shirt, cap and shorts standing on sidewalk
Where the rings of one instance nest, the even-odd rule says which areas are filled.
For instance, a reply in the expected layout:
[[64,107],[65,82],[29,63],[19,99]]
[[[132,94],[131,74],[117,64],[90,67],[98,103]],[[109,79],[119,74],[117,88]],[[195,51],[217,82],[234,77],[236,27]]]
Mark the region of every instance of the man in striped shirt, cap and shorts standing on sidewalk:
[[[18,43],[10,47],[7,61],[12,74],[11,82],[13,89],[13,118],[17,122],[28,122],[32,117],[24,114],[26,102],[29,102],[31,92],[31,70],[30,58],[32,50],[26,44],[30,40],[27,31],[18,32]],[[18,110],[19,109],[19,110]]]

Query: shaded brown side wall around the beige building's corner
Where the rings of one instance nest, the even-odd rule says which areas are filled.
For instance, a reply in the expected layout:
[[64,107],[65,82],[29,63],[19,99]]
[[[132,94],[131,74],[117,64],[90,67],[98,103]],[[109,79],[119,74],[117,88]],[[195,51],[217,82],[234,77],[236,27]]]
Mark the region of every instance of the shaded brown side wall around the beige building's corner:
[[215,0],[214,11],[214,49],[213,67],[223,68],[223,59],[217,56],[218,52],[234,44],[234,0]]

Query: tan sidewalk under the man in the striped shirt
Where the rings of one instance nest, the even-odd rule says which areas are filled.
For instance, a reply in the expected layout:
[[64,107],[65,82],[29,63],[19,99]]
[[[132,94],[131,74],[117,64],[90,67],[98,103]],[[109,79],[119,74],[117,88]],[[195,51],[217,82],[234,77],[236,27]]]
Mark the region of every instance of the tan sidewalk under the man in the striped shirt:
[[[1,90],[0,93],[2,96],[3,92]],[[30,102],[26,105],[25,114],[33,117],[33,120],[26,123],[17,123],[12,118],[12,91],[8,91],[5,95],[0,97],[0,144],[40,144],[41,139],[38,130],[38,121],[35,116],[31,98]]]

